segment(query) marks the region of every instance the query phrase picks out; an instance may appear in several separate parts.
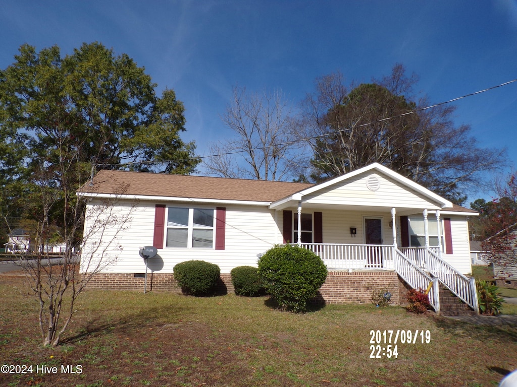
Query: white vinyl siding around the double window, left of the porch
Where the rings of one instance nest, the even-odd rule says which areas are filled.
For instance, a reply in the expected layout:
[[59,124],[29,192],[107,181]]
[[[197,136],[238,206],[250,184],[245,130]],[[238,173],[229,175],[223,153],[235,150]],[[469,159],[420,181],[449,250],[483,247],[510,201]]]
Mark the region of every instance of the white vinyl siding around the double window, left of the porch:
[[[92,201],[88,206],[94,203],[95,201]],[[132,221],[127,224],[129,228],[119,233],[112,248],[111,255],[114,256],[116,253],[118,259],[103,269],[103,272],[145,272],[145,263],[139,255],[139,248],[153,245],[155,204],[143,201],[139,203],[139,207],[131,214]],[[120,211],[121,208],[123,207],[117,207],[116,211]],[[104,238],[111,237],[111,232],[107,230]],[[158,249],[157,256],[148,261],[149,270],[173,272],[176,264],[188,260],[215,263],[222,273],[229,273],[236,266],[256,266],[257,254],[264,253],[275,245],[275,238],[278,239],[280,230],[275,223],[275,212],[265,206],[227,205],[225,234],[224,250],[167,247]],[[84,272],[85,267],[81,270]]]

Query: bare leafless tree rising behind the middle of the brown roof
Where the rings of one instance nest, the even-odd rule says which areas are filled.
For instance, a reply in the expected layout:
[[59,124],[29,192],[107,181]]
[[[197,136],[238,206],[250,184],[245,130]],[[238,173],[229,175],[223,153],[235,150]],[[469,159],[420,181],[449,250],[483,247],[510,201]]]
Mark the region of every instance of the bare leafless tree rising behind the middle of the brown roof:
[[222,116],[235,137],[212,144],[205,161],[211,174],[225,178],[285,180],[296,175],[298,144],[292,142],[290,107],[280,91],[247,94],[233,88]]

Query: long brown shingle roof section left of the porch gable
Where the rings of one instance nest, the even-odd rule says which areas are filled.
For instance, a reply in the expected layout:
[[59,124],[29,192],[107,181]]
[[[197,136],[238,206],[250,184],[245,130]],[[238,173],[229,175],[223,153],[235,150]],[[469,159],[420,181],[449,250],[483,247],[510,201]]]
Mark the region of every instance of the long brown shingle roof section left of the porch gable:
[[79,192],[272,202],[313,184],[102,170]]

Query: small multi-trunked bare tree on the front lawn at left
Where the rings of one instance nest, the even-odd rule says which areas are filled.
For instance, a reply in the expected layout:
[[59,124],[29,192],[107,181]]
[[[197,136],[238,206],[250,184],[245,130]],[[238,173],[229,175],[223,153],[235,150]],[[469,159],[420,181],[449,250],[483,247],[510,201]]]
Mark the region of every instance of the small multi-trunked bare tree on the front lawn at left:
[[[38,212],[35,213],[35,228],[30,230],[31,243],[15,256],[38,303],[42,344],[56,346],[68,328],[75,302],[88,282],[116,261],[121,251],[117,235],[128,227],[135,203],[120,207],[117,199],[99,200],[96,205],[89,206],[85,215],[85,199],[72,199],[75,192],[66,188],[56,190],[52,181],[46,180],[49,174],[43,176],[33,181],[37,183],[33,187],[33,200]],[[123,193],[124,187],[120,190]],[[56,227],[52,212],[56,206],[60,207],[63,196],[67,227]],[[7,221],[8,217],[4,218]],[[51,253],[51,238],[64,246],[59,254]],[[82,248],[85,245],[87,249]],[[79,265],[83,267],[83,275],[79,274]]]

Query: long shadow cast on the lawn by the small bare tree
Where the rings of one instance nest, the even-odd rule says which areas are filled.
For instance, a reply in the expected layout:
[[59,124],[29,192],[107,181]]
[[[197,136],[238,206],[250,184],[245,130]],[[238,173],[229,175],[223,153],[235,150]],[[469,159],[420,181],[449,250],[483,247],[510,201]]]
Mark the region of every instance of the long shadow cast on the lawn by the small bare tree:
[[125,313],[115,319],[108,316],[97,316],[86,321],[85,326],[80,328],[79,333],[64,337],[59,345],[73,344],[86,338],[99,337],[107,333],[127,333],[133,329],[140,329],[149,322],[161,321],[164,315],[170,319],[174,319],[174,316],[179,318],[186,310],[187,308],[181,308],[178,305],[168,305],[167,307],[153,307],[138,313]]

